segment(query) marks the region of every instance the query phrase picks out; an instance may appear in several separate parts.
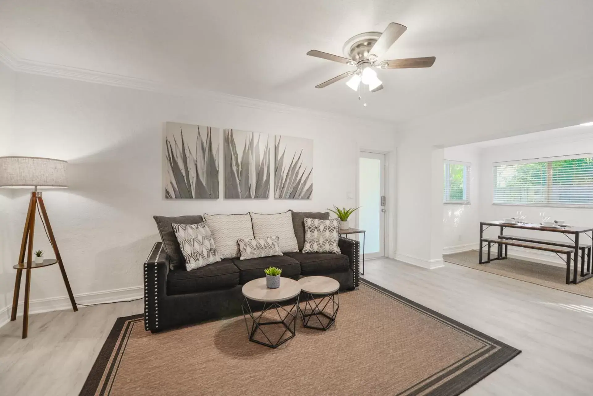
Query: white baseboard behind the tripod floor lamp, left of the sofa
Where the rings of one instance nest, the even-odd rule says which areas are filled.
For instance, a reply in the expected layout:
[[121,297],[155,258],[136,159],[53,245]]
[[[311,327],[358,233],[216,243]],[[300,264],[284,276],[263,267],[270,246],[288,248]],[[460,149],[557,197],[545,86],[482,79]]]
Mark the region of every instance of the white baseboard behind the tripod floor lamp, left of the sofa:
[[[84,305],[93,305],[99,303],[113,303],[127,300],[134,300],[144,297],[144,287],[125,287],[123,289],[104,290],[103,292],[75,294],[76,303]],[[18,303],[18,316],[23,316],[24,302]],[[46,299],[31,300],[29,302],[29,315],[33,313],[42,313],[49,311],[62,311],[63,309],[72,309],[68,296],[49,297]],[[0,310],[0,327],[10,321],[12,307],[7,306]]]

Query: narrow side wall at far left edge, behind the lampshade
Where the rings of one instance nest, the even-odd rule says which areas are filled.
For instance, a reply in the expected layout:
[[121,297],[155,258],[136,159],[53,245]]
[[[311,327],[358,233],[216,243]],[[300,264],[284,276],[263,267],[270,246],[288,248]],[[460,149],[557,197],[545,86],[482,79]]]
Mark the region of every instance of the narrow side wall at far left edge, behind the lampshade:
[[[0,156],[11,154],[12,112],[14,110],[15,73],[0,62]],[[12,304],[11,247],[14,243],[12,230],[12,192],[0,189],[0,326],[9,318]]]

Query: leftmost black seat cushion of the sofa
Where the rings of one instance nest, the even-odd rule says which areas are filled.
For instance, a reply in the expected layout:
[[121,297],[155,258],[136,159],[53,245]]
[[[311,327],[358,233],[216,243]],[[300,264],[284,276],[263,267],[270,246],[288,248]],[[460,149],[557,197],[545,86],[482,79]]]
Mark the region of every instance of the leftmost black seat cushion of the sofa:
[[239,284],[239,270],[224,259],[195,270],[174,270],[167,275],[167,294],[187,294],[225,289]]

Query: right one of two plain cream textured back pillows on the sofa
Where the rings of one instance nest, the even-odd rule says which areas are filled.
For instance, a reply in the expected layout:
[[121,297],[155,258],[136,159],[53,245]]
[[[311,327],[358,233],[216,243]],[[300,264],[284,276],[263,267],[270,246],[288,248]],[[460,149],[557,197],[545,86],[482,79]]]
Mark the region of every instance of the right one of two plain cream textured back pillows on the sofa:
[[278,236],[282,253],[298,252],[297,237],[292,227],[290,211],[276,214],[249,213],[253,224],[253,236],[267,238]]

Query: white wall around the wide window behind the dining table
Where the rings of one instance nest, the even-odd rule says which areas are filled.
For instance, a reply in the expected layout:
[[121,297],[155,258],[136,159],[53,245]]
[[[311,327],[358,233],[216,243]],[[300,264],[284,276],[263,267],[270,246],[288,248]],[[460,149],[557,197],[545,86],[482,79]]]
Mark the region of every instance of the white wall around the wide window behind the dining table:
[[[480,186],[479,217],[483,221],[501,220],[504,217],[515,216],[517,211],[520,210],[523,212],[524,216],[527,216],[527,221],[530,222],[540,221],[540,212],[545,212],[546,216],[550,216],[554,220],[565,220],[566,223],[574,226],[593,226],[593,208],[492,204],[492,166],[494,162],[593,153],[593,126],[563,128],[558,132],[559,133],[557,133],[555,137],[538,138],[541,134],[534,134],[533,141],[485,147],[480,151],[482,167],[480,180],[482,180],[482,183]],[[488,232],[490,231],[492,230],[488,230]],[[495,233],[495,231],[492,232]],[[541,235],[534,235],[533,231],[530,232],[525,230],[507,230],[506,233],[509,235],[526,235],[544,239],[569,241],[565,236],[556,235],[556,233],[539,233]],[[581,242],[590,244],[591,240],[588,237],[585,237],[585,240],[582,240]],[[509,255],[521,256],[522,258],[533,259],[535,261],[543,260],[562,267],[564,266],[562,260],[558,256],[549,252],[509,248]]]

